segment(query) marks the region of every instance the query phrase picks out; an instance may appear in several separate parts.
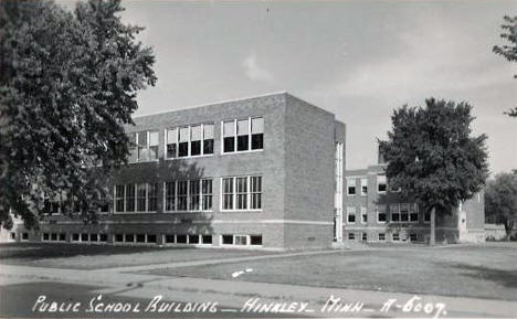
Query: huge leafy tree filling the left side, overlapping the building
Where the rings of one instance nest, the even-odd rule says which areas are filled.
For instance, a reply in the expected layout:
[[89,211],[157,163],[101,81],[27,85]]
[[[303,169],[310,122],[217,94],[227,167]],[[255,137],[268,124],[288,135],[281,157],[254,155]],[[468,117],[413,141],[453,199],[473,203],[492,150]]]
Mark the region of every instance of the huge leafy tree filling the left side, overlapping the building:
[[96,220],[105,178],[127,161],[136,94],[156,82],[152,51],[135,39],[143,29],[122,23],[123,10],[0,2],[0,224],[11,211],[38,226],[57,200],[62,213]]

